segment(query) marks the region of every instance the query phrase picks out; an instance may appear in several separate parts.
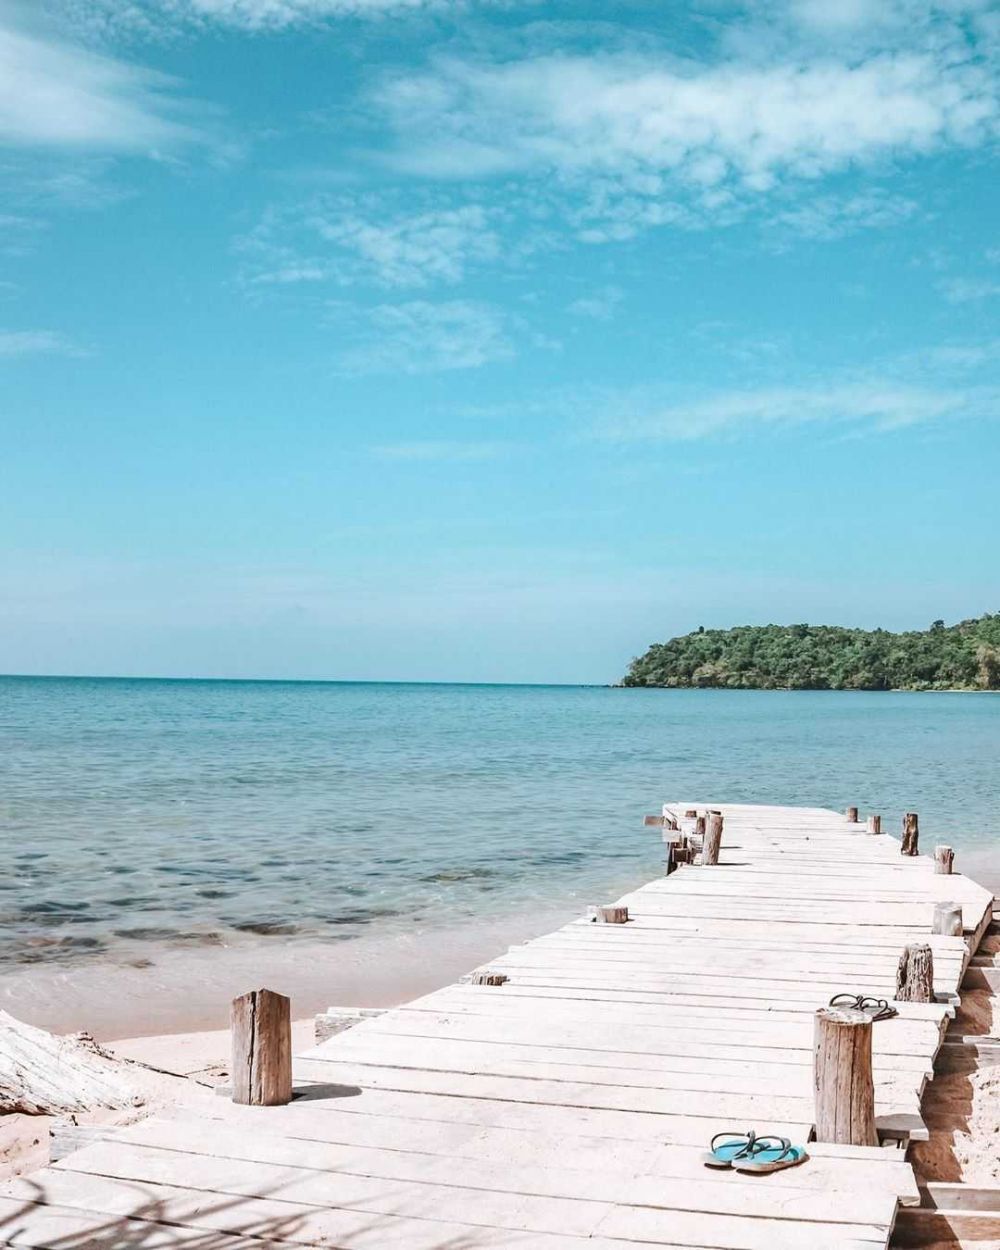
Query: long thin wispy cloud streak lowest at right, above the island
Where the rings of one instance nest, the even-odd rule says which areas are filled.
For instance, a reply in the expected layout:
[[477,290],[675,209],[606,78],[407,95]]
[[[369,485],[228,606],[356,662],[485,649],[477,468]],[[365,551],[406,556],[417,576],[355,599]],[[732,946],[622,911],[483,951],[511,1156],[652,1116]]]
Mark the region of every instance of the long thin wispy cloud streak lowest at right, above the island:
[[[631,410],[630,410],[631,409]],[[649,406],[620,402],[595,428],[615,442],[690,441],[751,429],[838,425],[891,430],[956,416],[1000,415],[996,388],[905,385],[895,380],[731,390]]]

